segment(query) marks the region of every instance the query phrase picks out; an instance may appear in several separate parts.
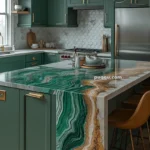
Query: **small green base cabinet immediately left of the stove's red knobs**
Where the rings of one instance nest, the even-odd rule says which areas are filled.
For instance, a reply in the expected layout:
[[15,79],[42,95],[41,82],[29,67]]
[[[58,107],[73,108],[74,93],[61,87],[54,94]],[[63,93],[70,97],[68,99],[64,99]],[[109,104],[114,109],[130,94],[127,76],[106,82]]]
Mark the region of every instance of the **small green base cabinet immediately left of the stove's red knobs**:
[[44,64],[59,62],[60,56],[55,53],[44,53]]

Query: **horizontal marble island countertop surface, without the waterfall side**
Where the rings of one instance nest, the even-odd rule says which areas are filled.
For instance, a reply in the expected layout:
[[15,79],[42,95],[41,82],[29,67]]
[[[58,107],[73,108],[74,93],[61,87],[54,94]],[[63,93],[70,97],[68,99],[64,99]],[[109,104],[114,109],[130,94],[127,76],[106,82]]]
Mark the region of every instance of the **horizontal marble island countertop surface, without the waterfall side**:
[[150,76],[150,62],[119,59],[103,62],[105,69],[75,69],[70,60],[65,60],[4,72],[0,73],[0,85],[43,93],[56,89],[83,93],[96,87],[99,96],[109,100]]

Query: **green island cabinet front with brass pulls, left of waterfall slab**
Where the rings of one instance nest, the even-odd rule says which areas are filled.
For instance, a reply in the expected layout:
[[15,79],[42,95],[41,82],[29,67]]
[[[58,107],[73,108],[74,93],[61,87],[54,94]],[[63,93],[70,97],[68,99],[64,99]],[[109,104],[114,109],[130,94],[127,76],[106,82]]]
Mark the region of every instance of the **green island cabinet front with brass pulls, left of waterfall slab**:
[[51,95],[29,93],[0,86],[0,150],[52,150]]

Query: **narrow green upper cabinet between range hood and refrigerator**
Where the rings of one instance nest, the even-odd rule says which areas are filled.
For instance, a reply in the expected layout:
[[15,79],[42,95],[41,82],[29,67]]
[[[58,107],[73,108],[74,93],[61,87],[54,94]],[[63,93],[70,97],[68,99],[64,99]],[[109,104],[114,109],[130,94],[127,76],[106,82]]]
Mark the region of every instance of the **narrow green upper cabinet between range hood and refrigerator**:
[[104,26],[106,28],[113,27],[114,13],[115,13],[115,3],[113,0],[104,0]]

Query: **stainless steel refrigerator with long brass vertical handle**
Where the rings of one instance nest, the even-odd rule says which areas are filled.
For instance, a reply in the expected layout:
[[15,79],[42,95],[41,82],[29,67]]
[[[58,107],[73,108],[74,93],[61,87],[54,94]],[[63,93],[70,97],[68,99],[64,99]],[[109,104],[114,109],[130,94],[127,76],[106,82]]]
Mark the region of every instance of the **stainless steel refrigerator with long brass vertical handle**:
[[150,61],[150,8],[116,8],[116,58]]

